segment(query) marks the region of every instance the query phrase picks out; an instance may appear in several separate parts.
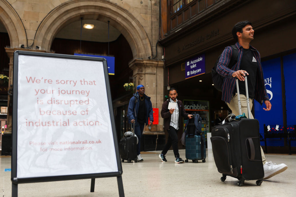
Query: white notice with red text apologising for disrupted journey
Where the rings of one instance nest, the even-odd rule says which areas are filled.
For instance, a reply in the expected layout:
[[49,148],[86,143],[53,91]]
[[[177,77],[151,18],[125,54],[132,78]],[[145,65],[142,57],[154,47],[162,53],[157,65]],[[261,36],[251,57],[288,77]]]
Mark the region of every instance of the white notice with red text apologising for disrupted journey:
[[17,178],[118,172],[103,62],[18,56]]

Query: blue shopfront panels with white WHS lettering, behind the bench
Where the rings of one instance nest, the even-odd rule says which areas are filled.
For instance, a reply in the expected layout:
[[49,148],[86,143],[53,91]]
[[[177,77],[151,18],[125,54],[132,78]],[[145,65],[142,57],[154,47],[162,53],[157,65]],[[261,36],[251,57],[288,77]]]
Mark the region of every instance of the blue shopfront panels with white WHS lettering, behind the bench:
[[[294,126],[296,125],[295,118],[295,79],[296,73],[296,53],[283,56],[283,68],[284,68],[284,85],[285,85],[285,100],[286,100],[286,115],[287,115],[287,131],[295,132]],[[265,104],[260,106],[257,101],[254,101],[255,118],[258,119],[260,124],[260,133],[263,136],[263,124],[269,125],[270,131],[276,129],[278,132],[284,130],[283,120],[283,104],[282,104],[282,88],[281,88],[281,58],[271,59],[262,62],[264,70],[265,87],[270,98],[271,110],[265,111]],[[271,128],[271,125],[276,127]],[[261,142],[261,145],[264,145]],[[267,143],[268,146],[284,146],[284,140],[270,140]],[[296,146],[296,141],[291,141],[292,146]]]

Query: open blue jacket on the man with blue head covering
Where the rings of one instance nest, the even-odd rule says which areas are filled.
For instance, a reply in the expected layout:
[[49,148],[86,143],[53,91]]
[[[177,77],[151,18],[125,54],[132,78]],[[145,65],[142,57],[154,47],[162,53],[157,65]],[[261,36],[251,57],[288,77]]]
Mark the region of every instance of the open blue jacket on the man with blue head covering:
[[[144,94],[145,98],[145,123],[146,125],[149,124],[148,118],[150,121],[153,122],[153,109],[152,109],[152,103],[150,101],[150,97]],[[138,111],[139,111],[139,93],[136,92],[133,94],[133,97],[131,97],[130,102],[128,104],[128,121],[131,122],[131,120],[135,120],[137,123],[138,119]]]

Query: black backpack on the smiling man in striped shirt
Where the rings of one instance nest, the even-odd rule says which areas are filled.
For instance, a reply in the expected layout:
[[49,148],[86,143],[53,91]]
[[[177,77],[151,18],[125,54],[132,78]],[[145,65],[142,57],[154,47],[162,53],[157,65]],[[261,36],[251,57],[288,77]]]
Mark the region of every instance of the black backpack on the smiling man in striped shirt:
[[[237,47],[235,45],[231,45],[232,48],[232,56],[230,58],[230,62],[228,64],[228,68],[231,68],[233,65],[235,65],[237,63],[237,56],[238,56],[238,50]],[[221,55],[218,57],[217,61],[215,62],[215,66],[212,68],[212,80],[213,80],[213,84],[214,87],[219,90],[220,92],[222,92],[222,85],[223,85],[223,80],[225,77],[223,77],[222,75],[217,73],[217,64],[219,62]]]

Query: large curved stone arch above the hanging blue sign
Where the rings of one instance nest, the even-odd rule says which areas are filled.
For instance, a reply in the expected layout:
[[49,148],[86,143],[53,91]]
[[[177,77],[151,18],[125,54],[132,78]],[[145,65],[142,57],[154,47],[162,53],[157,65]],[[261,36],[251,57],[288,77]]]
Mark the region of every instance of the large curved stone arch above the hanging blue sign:
[[[81,12],[83,10],[83,12]],[[49,51],[55,35],[71,22],[95,19],[107,22],[118,29],[131,46],[133,58],[151,56],[149,38],[140,22],[128,10],[110,1],[68,1],[50,12],[41,22],[34,46]]]

